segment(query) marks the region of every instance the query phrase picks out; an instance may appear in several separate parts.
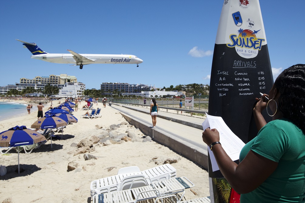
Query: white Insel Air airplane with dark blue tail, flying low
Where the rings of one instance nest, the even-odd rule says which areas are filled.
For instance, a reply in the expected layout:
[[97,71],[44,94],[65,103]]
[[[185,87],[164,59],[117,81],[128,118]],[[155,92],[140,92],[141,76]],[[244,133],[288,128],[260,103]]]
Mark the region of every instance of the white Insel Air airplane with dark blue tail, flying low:
[[[17,39],[16,39],[17,40]],[[42,51],[37,44],[28,43],[18,40],[23,43],[24,48],[30,50],[33,54],[31,58],[47,61],[51,63],[66,63],[79,65],[80,69],[83,69],[83,65],[87,64],[139,64],[143,62],[142,59],[135,55],[129,54],[77,54],[74,51],[67,49],[71,54],[49,54]]]

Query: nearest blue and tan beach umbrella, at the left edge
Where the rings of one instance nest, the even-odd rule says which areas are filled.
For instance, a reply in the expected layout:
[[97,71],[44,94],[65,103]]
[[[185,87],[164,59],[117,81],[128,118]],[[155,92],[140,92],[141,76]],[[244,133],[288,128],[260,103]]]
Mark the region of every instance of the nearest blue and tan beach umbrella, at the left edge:
[[15,126],[0,133],[2,139],[0,140],[0,147],[17,147],[18,148],[18,173],[19,168],[19,146],[33,145],[38,142],[45,141],[45,136],[40,133],[27,129],[24,125]]

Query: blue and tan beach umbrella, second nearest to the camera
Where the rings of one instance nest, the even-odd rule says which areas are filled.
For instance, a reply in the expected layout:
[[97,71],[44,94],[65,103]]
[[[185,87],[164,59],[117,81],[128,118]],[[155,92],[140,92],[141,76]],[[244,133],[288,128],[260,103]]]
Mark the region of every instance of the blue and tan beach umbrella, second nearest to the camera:
[[[46,129],[46,128],[59,128],[68,125],[66,121],[63,119],[55,116],[55,115],[48,115],[46,114],[44,117],[39,118],[37,121],[35,121],[31,128],[40,128],[40,129]],[[51,148],[52,148],[52,135],[51,137]]]

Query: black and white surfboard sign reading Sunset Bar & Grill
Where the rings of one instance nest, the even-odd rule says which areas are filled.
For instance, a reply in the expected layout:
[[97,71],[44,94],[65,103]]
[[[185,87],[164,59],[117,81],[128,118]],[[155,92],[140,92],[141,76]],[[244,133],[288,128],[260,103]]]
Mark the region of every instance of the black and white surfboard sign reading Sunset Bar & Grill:
[[[220,116],[243,142],[257,135],[255,98],[273,85],[267,39],[258,0],[224,0],[214,46],[209,114]],[[263,114],[266,121],[271,117]],[[238,160],[236,161],[238,162]],[[211,202],[230,202],[230,185],[209,159]],[[232,199],[232,198],[231,198]]]

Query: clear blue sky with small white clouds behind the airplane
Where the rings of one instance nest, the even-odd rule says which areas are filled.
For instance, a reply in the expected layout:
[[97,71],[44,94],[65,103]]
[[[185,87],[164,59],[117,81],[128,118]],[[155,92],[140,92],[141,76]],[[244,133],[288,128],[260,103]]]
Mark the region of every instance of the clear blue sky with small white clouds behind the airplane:
[[[209,84],[222,0],[2,1],[0,86],[22,77],[75,75],[87,89],[102,82],[156,87]],[[274,76],[304,61],[305,1],[260,1]],[[79,66],[31,59],[21,42],[48,53],[133,54],[144,62]]]

